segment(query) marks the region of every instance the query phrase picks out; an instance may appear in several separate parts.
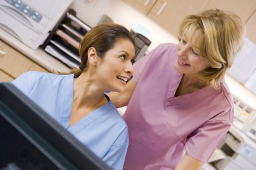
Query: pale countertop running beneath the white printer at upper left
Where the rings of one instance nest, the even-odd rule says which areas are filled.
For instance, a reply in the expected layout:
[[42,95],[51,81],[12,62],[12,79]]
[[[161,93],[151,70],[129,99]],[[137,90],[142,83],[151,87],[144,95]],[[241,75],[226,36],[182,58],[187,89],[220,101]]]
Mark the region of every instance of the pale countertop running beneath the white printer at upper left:
[[16,50],[20,51],[25,56],[28,56],[31,60],[34,60],[34,62],[37,62],[39,65],[44,67],[50,72],[54,71],[63,71],[67,72],[69,71],[69,67],[64,65],[59,60],[53,58],[53,56],[47,54],[44,52],[42,48],[38,48],[36,50],[33,50],[32,48],[29,48],[20,40],[17,40],[13,36],[11,36],[9,33],[5,32],[0,28],[0,39],[15,48]]

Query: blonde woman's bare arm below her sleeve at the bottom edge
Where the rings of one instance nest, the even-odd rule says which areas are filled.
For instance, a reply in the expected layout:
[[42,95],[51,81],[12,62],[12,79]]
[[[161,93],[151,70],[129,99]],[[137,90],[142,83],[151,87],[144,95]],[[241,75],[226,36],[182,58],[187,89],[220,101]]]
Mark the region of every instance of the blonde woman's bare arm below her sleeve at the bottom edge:
[[183,159],[178,163],[177,167],[174,170],[200,170],[203,167],[203,162],[184,155]]

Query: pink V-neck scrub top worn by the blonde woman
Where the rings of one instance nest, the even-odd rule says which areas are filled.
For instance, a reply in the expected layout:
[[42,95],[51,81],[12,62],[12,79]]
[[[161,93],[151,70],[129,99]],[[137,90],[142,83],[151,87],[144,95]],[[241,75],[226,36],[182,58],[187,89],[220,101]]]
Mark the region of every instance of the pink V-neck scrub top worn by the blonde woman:
[[124,169],[174,169],[183,155],[206,162],[233,120],[224,81],[174,97],[183,74],[175,44],[161,44],[134,65],[135,91],[123,118],[129,131]]

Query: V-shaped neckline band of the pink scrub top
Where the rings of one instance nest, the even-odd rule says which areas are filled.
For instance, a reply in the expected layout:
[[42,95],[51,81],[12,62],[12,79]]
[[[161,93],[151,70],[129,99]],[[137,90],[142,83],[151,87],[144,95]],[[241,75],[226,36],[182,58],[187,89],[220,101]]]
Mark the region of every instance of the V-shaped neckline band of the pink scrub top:
[[179,83],[181,82],[181,79],[183,77],[183,73],[179,73],[177,71],[175,71],[175,73],[176,74],[174,75],[174,79],[171,79],[171,82],[169,85],[170,90],[168,91],[167,105],[178,105],[179,103],[182,103],[182,104],[191,103],[192,100],[198,101],[198,99],[200,98],[203,99],[207,95],[211,95],[212,93],[216,93],[217,91],[213,87],[206,86],[192,93],[174,97],[179,87]]

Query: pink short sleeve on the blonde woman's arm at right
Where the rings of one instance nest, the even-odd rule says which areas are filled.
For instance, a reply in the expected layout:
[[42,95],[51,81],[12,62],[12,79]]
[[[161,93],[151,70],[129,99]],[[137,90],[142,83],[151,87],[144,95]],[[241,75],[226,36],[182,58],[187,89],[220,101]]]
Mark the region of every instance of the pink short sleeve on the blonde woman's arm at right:
[[214,119],[205,122],[187,138],[186,155],[207,162],[231,125],[232,122],[228,120]]

